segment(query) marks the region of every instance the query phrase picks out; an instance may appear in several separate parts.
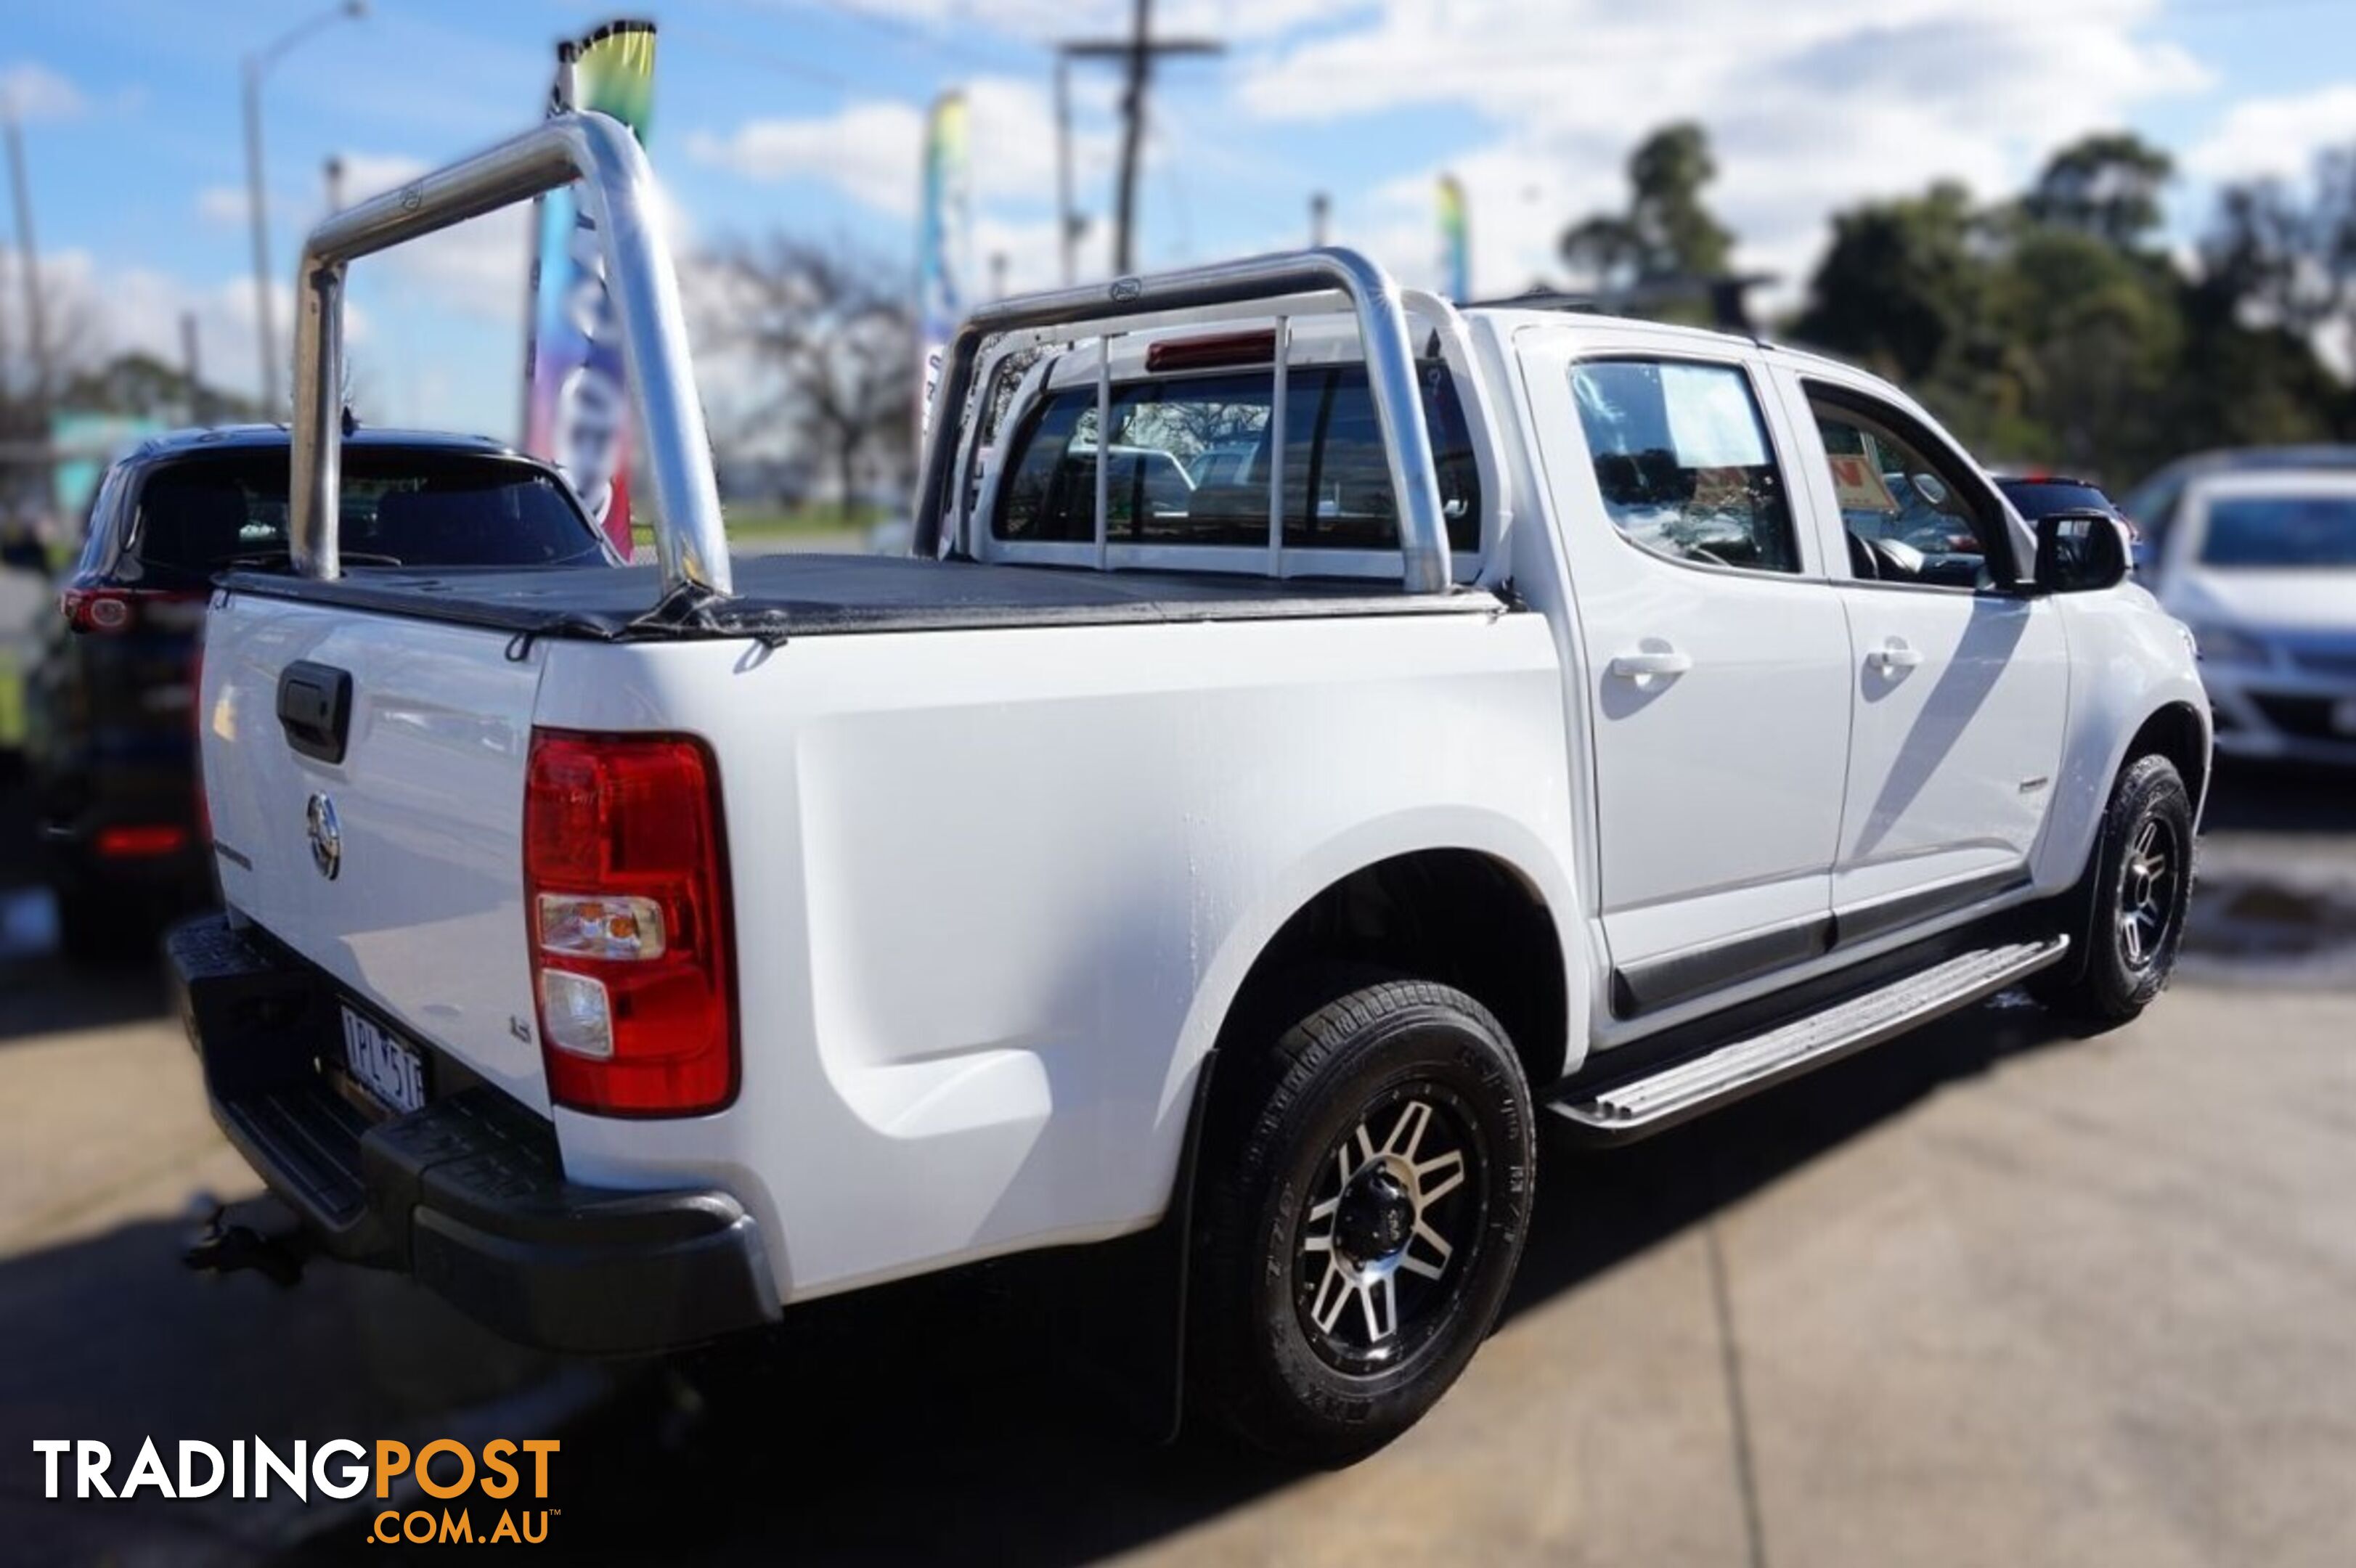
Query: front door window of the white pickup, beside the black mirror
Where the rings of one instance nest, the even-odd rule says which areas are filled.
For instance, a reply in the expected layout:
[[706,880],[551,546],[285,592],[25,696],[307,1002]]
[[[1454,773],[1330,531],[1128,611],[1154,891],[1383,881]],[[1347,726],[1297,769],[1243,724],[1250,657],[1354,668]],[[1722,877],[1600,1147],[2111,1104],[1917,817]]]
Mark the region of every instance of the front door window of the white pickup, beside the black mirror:
[[1809,388],[1824,436],[1833,499],[1849,546],[1849,574],[1970,593],[1991,582],[2003,520],[1953,457],[1899,431],[1847,396]]

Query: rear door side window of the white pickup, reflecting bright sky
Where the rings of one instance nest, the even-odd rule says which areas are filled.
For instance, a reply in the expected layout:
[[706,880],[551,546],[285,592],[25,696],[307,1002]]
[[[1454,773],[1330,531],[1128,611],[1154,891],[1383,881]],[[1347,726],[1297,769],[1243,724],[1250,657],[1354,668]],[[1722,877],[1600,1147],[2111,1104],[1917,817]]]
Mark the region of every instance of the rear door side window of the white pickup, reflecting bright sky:
[[1630,544],[1701,565],[1800,570],[1783,473],[1739,367],[1583,360],[1571,400],[1604,516]]

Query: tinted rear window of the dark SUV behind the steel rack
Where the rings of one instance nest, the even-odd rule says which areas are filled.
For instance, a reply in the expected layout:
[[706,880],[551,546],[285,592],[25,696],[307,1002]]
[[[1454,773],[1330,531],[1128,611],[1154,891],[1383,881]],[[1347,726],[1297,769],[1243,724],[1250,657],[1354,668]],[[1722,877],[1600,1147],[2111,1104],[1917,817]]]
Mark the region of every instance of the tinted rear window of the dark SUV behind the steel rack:
[[[450,452],[344,447],[344,565],[596,565],[596,534],[563,487],[528,464]],[[287,563],[287,454],[191,457],[148,476],[125,577],[207,582]]]

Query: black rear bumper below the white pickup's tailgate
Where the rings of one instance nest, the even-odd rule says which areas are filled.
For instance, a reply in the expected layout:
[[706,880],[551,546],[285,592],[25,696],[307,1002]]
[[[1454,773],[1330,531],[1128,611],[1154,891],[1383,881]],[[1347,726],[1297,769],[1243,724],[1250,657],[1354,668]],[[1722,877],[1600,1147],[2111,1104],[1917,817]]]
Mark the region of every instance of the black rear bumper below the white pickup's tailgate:
[[481,1083],[370,1121],[320,1067],[335,996],[311,965],[221,913],[165,949],[212,1118],[325,1253],[556,1351],[676,1349],[777,1318],[761,1231],[730,1194],[568,1182],[549,1123]]

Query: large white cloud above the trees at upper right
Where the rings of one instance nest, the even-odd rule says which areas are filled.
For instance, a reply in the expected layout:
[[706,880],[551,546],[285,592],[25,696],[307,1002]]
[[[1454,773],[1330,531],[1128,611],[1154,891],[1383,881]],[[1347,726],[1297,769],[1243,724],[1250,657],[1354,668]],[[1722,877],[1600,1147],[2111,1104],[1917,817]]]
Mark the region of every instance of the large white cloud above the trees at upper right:
[[1246,61],[1237,101],[1282,137],[1402,106],[1458,108],[1489,139],[1374,191],[1374,228],[1430,278],[1430,184],[1468,191],[1480,292],[1560,273],[1555,238],[1626,200],[1621,167],[1649,129],[1701,120],[1710,205],[1739,264],[1805,280],[1826,217],[1873,195],[1965,179],[1998,193],[2059,141],[2208,85],[2149,40],[2158,0],[1395,0],[1357,26]]

